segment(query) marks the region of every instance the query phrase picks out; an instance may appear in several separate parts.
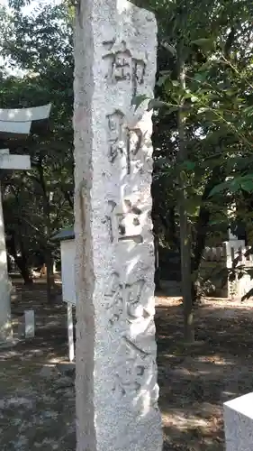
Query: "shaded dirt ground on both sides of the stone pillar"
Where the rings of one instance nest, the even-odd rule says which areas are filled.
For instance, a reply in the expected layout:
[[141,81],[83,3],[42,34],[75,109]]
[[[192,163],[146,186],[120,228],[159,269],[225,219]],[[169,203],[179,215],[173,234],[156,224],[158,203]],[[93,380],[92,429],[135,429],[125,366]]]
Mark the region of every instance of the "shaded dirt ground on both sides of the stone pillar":
[[[185,350],[180,302],[157,301],[164,449],[224,450],[222,403],[252,391],[253,303],[205,302],[196,312],[203,344]],[[74,376],[56,365],[68,355],[66,309],[60,299],[47,306],[42,285],[18,288],[14,313],[31,306],[36,337],[0,354],[0,450],[74,451]]]

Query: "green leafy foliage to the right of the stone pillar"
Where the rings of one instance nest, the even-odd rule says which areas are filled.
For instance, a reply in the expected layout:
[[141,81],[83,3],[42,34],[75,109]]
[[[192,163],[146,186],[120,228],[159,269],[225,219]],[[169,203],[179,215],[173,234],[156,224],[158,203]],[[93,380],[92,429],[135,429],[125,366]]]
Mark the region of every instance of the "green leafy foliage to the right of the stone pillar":
[[[167,245],[178,247],[178,180],[183,180],[192,271],[197,272],[207,240],[229,226],[252,228],[253,6],[249,0],[136,3],[156,14],[156,98],[172,106],[159,108],[154,116],[156,227]],[[182,67],[185,86],[180,82]],[[179,109],[185,127],[183,163],[178,155]],[[237,210],[229,216],[233,205]],[[174,224],[168,220],[172,210]]]

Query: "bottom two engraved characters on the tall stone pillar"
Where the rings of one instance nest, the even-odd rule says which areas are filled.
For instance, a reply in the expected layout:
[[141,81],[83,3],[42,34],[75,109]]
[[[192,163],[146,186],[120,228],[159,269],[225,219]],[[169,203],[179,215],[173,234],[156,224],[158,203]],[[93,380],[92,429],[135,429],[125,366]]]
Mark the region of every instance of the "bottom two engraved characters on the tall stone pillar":
[[[154,308],[149,310],[142,305],[145,298],[146,281],[140,278],[132,283],[122,282],[119,272],[113,272],[108,289],[105,291],[107,301],[106,309],[109,310],[109,324],[113,327],[122,319],[122,325],[126,326],[126,320],[130,323],[145,321],[148,323],[154,316]],[[124,327],[123,327],[124,330]],[[142,333],[146,333],[142,329]],[[140,342],[140,343],[139,343]],[[150,403],[156,407],[158,401],[158,385],[156,383],[156,364],[152,349],[145,350],[145,341],[136,342],[127,334],[122,335],[117,354],[117,367],[113,392],[120,396],[138,396],[140,390],[145,387],[149,390]]]

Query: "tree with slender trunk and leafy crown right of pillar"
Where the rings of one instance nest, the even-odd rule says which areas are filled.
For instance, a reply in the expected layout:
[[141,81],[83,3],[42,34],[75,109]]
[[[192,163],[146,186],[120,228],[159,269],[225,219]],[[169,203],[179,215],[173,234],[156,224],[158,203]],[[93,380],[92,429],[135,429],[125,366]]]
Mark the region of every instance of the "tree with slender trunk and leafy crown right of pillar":
[[[170,211],[179,204],[185,338],[191,340],[192,303],[206,238],[215,226],[229,226],[227,207],[232,197],[221,197],[215,187],[222,187],[235,170],[231,156],[238,161],[242,148],[248,155],[252,152],[251,126],[246,129],[242,114],[245,109],[251,114],[248,82],[239,77],[248,72],[252,58],[248,47],[252,4],[248,0],[236,4],[207,0],[202,5],[195,0],[137,3],[151,8],[158,18],[154,185],[166,191],[153,188],[153,192],[155,209],[163,219],[167,219],[165,198]],[[172,195],[167,194],[169,187]],[[167,221],[164,224],[170,226]]]

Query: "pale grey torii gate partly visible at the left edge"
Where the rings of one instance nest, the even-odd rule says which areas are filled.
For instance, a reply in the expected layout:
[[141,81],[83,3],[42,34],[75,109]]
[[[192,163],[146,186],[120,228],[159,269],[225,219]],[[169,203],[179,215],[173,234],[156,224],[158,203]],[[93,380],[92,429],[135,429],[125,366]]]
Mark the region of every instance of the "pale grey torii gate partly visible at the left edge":
[[[0,138],[26,138],[33,122],[48,120],[50,104],[34,108],[0,109]],[[29,170],[29,155],[12,155],[0,150],[0,170]],[[11,295],[5,245],[5,224],[0,189],[0,346],[12,342]]]

